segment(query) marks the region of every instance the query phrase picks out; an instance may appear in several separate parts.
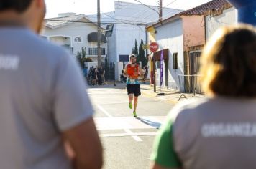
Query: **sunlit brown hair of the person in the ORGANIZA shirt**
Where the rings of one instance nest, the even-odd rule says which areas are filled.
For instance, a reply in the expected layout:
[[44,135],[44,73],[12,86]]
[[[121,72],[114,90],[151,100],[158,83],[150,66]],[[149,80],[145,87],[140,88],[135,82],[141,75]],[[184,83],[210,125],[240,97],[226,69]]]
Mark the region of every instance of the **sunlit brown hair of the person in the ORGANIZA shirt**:
[[219,29],[203,53],[203,87],[228,97],[256,97],[256,29],[249,25]]

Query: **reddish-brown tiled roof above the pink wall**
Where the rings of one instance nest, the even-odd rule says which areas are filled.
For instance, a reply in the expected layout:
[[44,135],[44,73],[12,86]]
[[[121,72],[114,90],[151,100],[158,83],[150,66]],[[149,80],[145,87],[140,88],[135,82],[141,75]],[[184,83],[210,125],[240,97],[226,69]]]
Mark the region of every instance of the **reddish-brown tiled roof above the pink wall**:
[[221,11],[223,9],[227,9],[232,7],[228,1],[225,0],[213,0],[209,1],[206,4],[202,4],[193,9],[188,9],[186,11],[180,12],[180,15],[203,15],[209,11]]

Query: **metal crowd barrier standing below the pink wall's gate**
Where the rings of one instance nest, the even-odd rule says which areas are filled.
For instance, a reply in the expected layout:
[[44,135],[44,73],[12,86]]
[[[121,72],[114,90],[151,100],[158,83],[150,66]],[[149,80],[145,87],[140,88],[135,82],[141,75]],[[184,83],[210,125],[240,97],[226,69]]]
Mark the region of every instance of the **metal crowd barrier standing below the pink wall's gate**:
[[181,93],[193,93],[193,95],[204,95],[204,92],[201,89],[201,85],[199,83],[199,78],[201,75],[193,74],[193,75],[178,75],[178,82],[180,86]]

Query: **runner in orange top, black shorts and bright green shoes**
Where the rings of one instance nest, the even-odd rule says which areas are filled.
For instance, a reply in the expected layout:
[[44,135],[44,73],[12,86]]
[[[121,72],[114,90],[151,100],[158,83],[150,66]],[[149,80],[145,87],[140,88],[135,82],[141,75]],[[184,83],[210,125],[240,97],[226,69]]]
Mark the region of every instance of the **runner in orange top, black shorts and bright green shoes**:
[[142,69],[136,62],[136,56],[130,54],[129,63],[124,67],[124,77],[127,77],[127,93],[129,97],[129,108],[132,109],[133,100],[133,116],[137,117],[136,108],[140,93],[139,77],[143,76]]

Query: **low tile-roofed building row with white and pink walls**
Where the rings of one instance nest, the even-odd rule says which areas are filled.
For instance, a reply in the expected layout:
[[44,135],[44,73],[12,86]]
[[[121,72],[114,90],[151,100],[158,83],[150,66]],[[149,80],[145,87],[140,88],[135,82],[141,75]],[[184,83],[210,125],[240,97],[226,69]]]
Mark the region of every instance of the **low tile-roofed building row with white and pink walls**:
[[[147,26],[152,42],[159,44],[159,51],[152,57],[156,61],[156,85],[160,86],[160,52],[165,59],[163,87],[181,92],[201,93],[200,55],[209,36],[219,26],[237,22],[237,11],[225,0],[213,0],[193,9]],[[167,62],[168,60],[168,62]],[[152,66],[152,63],[150,64]],[[153,73],[152,69],[150,71]]]

